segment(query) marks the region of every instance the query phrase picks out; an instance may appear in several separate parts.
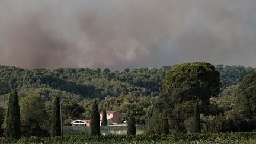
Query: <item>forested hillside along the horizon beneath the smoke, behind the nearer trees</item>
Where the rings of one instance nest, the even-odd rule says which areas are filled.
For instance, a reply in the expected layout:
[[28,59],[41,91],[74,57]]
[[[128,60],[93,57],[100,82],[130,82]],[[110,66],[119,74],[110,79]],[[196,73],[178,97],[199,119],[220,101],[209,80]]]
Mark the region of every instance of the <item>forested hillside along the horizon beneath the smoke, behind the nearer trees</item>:
[[[244,66],[217,65],[216,69],[220,72],[221,91],[238,84],[245,75],[254,71],[254,68]],[[168,70],[167,66],[132,71],[126,68],[122,72],[111,72],[110,69],[101,71],[99,68],[58,68],[50,71],[0,66],[0,98],[1,103],[5,103],[6,96],[14,88],[20,97],[33,93],[45,101],[56,96],[78,101],[120,95],[153,97],[159,95],[159,87]]]

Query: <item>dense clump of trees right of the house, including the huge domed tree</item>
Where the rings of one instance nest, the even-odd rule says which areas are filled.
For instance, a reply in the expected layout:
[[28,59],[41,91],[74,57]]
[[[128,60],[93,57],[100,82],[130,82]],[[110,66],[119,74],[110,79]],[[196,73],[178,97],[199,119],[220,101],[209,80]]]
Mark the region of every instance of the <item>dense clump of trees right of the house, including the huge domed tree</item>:
[[220,75],[213,65],[203,62],[184,63],[167,72],[151,113],[148,133],[162,133],[158,124],[164,113],[168,113],[171,132],[255,130],[256,71],[218,97],[223,82]]

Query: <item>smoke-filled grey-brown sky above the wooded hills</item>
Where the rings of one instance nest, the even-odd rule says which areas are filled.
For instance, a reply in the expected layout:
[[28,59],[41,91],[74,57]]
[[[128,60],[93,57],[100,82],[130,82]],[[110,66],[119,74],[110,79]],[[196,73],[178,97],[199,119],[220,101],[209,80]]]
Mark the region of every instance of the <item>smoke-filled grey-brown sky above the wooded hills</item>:
[[0,65],[256,67],[255,0],[0,1]]

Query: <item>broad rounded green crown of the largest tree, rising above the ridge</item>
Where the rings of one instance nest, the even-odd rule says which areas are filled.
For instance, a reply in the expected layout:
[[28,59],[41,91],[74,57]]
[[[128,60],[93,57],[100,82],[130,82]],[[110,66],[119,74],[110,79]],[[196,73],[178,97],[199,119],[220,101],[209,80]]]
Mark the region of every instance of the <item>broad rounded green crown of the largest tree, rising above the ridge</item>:
[[219,94],[220,73],[210,63],[194,62],[175,66],[168,71],[162,82],[160,100],[166,108],[184,101],[203,101],[209,105],[209,98]]

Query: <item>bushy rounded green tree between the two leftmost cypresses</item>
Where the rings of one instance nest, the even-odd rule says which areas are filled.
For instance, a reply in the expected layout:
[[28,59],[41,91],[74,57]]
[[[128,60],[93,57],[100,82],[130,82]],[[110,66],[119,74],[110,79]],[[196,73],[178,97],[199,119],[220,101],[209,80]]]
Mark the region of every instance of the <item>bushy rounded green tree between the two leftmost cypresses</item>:
[[45,104],[39,95],[28,95],[20,100],[21,130],[24,136],[47,135]]

